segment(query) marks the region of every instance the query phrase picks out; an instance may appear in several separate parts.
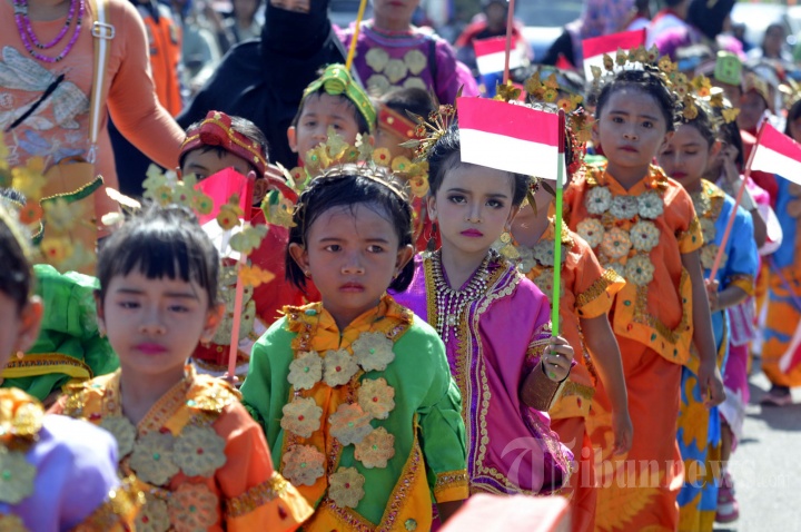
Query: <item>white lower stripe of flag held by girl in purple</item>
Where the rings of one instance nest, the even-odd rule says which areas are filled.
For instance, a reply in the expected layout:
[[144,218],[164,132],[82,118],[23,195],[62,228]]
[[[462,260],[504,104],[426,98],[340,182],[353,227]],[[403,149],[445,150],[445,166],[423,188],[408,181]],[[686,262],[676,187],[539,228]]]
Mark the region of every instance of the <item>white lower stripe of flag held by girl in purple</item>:
[[503,135],[461,129],[462,160],[526,176],[556,180],[558,148]]

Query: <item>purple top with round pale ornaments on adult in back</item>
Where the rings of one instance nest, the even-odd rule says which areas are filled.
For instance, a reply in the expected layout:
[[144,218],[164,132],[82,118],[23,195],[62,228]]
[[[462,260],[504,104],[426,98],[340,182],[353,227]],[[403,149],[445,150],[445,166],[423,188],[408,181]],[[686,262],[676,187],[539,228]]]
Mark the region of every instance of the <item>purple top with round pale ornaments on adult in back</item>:
[[[338,29],[339,40],[350,46],[355,24]],[[412,27],[409,31],[386,32],[362,22],[354,67],[369,92],[384,93],[395,87],[432,90],[441,104],[454,104],[459,87],[463,96],[478,96],[469,69],[456,60],[448,42],[434,33]]]

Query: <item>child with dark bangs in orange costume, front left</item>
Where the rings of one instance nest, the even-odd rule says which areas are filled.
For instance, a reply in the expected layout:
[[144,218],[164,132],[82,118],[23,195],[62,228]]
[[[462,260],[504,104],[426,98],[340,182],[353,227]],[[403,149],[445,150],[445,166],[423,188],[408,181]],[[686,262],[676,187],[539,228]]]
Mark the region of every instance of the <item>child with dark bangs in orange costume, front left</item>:
[[52,408],[108,430],[147,503],[136,526],[295,530],[312,511],[273,469],[261,428],[226,382],[185,366],[214,336],[219,256],[185,209],[150,208],[98,257],[98,323],[120,370]]

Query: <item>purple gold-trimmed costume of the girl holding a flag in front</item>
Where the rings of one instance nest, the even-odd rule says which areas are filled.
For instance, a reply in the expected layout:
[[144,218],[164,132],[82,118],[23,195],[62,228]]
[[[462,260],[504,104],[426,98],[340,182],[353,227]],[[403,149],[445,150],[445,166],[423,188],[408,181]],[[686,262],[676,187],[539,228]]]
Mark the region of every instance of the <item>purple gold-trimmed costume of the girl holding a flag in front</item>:
[[[435,325],[438,296],[433,263],[415,257],[412,285],[394,297]],[[468,301],[461,314],[445,318],[451,326],[443,335],[462,392],[471,493],[554,493],[566,482],[573,455],[551,431],[547,414],[520,398],[523,382],[551,336],[548,302],[504,259],[490,262],[485,278],[483,293]]]

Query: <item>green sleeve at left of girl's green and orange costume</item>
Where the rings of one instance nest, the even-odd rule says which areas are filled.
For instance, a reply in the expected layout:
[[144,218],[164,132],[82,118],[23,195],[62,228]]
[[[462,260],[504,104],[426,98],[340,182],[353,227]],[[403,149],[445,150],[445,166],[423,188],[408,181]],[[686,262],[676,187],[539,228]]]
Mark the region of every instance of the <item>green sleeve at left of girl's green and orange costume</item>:
[[286,331],[285,324],[286,318],[274,323],[256,342],[250,352],[248,374],[240,388],[243,404],[261,425],[270,449],[276,447],[281,410],[289,393],[286,375],[293,359],[291,341],[295,333]]

